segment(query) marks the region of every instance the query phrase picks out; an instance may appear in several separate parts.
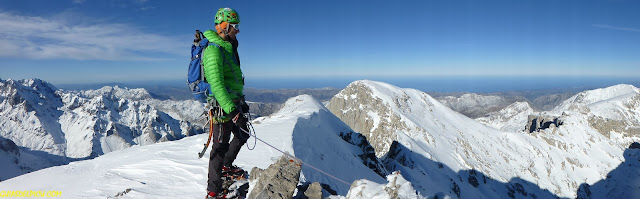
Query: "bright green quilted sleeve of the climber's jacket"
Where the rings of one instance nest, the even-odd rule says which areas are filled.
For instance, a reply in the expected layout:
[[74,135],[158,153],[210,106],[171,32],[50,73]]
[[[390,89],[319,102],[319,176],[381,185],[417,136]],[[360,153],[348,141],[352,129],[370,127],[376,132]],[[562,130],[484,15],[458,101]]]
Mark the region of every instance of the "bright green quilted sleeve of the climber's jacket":
[[224,61],[220,49],[216,45],[209,45],[202,56],[204,76],[211,86],[211,92],[225,113],[231,113],[236,109],[231,100],[231,95],[224,85]]

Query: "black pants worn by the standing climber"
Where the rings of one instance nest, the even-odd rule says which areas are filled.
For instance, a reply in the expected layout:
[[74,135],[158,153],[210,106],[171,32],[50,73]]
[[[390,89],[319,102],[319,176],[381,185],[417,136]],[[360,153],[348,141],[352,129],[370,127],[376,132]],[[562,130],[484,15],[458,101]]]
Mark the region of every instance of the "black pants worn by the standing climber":
[[[223,124],[214,125],[213,131],[213,148],[211,149],[211,156],[209,157],[209,179],[207,180],[207,191],[219,193],[222,189],[222,165],[230,167],[233,161],[238,156],[240,148],[247,142],[249,135],[242,132],[239,128],[247,130],[247,122],[238,121],[238,125],[231,121]],[[220,126],[222,125],[222,140],[219,141]],[[229,143],[233,132],[233,140]]]

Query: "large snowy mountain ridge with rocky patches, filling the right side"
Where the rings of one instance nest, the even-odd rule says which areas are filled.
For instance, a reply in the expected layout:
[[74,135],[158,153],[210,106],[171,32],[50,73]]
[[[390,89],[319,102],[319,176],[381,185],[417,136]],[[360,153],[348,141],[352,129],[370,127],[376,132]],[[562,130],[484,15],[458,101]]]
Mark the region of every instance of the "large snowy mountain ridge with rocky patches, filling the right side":
[[[533,134],[487,128],[428,95],[367,80],[350,84],[328,107],[355,132],[366,136],[376,155],[388,151],[386,157],[397,162],[389,166],[385,160],[385,167],[411,176],[414,188],[424,190],[423,193],[455,193],[454,198],[458,194],[462,198],[467,194],[479,195],[482,191],[476,190],[482,189],[484,178],[481,176],[486,175],[487,179],[501,182],[516,177],[523,179],[509,182],[508,186],[490,183],[494,190],[508,190],[507,197],[548,194],[575,198],[574,190],[581,183],[592,183],[606,175],[620,164],[622,146],[626,148],[637,141],[638,93],[639,89],[632,86],[614,86],[576,95],[552,111],[523,114],[522,120],[511,120],[514,116],[520,117],[522,112],[532,111],[529,105],[521,103],[523,106],[514,106],[513,112],[498,118],[517,123],[518,131],[526,128],[525,132],[545,132]],[[529,118],[529,115],[535,116]],[[587,121],[589,118],[593,119]],[[394,140],[411,153],[398,153],[394,147],[388,147],[392,150],[385,147]],[[446,168],[464,172],[462,175],[447,172],[446,176],[434,180],[437,171]],[[585,173],[588,174],[584,177],[575,177]],[[449,184],[447,178],[454,179],[450,187],[433,187],[443,182]]]

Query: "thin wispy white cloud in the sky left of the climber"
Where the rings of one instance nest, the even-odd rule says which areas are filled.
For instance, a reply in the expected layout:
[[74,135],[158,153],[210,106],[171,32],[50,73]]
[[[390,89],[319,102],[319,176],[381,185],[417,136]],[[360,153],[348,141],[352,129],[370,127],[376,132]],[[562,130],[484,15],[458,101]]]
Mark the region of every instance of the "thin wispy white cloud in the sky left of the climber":
[[176,37],[117,23],[71,24],[0,12],[0,57],[75,60],[167,60],[187,45]]

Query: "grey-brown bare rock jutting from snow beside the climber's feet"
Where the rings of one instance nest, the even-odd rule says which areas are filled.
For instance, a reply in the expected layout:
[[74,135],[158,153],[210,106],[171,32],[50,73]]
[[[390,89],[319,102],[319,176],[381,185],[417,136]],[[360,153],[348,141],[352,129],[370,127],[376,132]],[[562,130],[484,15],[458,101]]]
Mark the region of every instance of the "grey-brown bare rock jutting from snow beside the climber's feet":
[[251,169],[250,180],[258,180],[249,194],[249,198],[293,198],[301,167],[295,161],[282,156],[278,161],[263,170]]

